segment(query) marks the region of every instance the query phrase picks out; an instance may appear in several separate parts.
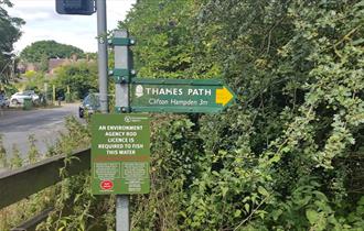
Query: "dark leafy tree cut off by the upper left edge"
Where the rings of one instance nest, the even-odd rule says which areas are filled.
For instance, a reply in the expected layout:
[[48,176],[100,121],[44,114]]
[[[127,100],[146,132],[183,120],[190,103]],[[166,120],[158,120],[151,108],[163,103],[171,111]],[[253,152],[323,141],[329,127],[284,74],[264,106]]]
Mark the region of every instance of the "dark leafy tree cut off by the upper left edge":
[[21,36],[20,26],[25,22],[20,18],[12,18],[3,6],[12,7],[9,0],[0,1],[0,85],[9,82],[13,72],[13,44]]

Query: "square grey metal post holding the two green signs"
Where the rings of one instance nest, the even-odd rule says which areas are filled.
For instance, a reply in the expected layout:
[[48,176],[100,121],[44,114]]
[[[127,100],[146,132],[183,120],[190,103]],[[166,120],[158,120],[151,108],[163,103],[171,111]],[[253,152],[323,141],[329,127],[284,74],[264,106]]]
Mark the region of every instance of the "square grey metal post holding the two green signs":
[[[114,37],[128,37],[127,31],[115,31]],[[131,69],[130,54],[128,46],[115,46],[115,68],[116,69]],[[115,85],[115,107],[120,109],[120,112],[129,111],[129,87],[128,82]],[[129,231],[129,196],[116,196],[116,230]]]

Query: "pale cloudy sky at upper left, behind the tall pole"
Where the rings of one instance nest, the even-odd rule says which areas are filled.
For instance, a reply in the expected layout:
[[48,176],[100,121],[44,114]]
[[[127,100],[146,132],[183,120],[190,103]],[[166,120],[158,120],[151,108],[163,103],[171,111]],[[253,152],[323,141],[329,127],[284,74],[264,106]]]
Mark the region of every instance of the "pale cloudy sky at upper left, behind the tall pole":
[[[97,51],[97,18],[93,15],[65,15],[55,12],[55,0],[11,0],[14,4],[7,9],[12,16],[25,20],[21,28],[21,38],[14,44],[20,53],[31,43],[54,40],[74,45],[85,52]],[[107,30],[114,30],[122,21],[136,0],[106,0]]]

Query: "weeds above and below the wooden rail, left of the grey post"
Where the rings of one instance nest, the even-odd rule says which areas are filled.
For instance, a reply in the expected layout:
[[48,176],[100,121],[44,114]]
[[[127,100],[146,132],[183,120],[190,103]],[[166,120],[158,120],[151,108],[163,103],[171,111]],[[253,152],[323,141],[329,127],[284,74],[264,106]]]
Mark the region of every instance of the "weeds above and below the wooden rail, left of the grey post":
[[[90,142],[88,124],[83,124],[71,117],[66,119],[65,123],[66,131],[60,133],[58,141],[55,145],[50,146],[46,157],[71,154],[75,150],[88,147]],[[28,153],[28,163],[22,162],[19,150],[14,147],[13,156],[8,165],[7,152],[3,147],[2,135],[0,135],[0,164],[2,167],[18,168],[44,157],[39,155],[34,142],[34,136],[30,135],[31,148]],[[78,162],[78,160],[69,157],[66,158],[65,164],[67,165],[69,162]],[[95,198],[90,195],[89,172],[69,177],[65,168],[62,168],[60,174],[64,178],[62,183],[1,209],[0,230],[10,230],[50,207],[53,207],[54,210],[38,230],[86,230],[85,227],[94,228],[93,230],[105,230],[105,227],[108,227],[110,230],[114,226],[114,198]]]

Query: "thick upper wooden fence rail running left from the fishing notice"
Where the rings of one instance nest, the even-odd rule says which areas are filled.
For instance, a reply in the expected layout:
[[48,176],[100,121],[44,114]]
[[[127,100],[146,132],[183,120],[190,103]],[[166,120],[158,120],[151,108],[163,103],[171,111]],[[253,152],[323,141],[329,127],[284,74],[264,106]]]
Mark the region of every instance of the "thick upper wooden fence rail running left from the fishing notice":
[[[69,155],[68,155],[69,156]],[[71,156],[66,166],[68,176],[89,169],[90,150],[83,150]],[[60,168],[65,166],[67,155],[54,156],[32,165],[0,174],[0,209],[61,182]]]

